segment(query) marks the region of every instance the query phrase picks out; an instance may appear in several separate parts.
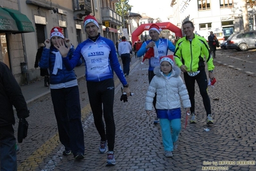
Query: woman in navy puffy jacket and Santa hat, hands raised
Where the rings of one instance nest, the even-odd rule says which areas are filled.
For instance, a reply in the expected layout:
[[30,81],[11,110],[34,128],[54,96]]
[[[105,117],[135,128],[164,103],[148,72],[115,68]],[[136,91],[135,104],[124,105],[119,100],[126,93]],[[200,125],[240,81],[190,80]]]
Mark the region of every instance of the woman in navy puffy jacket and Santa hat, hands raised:
[[[83,159],[85,145],[81,124],[81,107],[78,81],[74,70],[67,70],[62,62],[62,54],[58,51],[58,42],[64,42],[69,49],[67,57],[73,58],[74,47],[70,40],[62,35],[62,28],[51,29],[50,39],[44,44],[39,67],[49,69],[51,99],[58,126],[60,142],[64,145],[64,156],[73,153],[74,159]],[[66,56],[65,56],[66,57]],[[81,56],[80,56],[81,57]],[[81,60],[78,60],[81,65]]]

